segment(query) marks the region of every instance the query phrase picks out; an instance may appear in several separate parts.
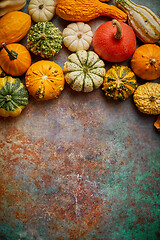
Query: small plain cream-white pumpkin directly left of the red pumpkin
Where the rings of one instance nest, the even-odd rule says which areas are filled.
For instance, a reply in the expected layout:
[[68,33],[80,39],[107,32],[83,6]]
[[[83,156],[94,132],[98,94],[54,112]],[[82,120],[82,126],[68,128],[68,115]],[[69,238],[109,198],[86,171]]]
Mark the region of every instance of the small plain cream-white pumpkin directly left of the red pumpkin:
[[62,33],[64,45],[72,52],[88,50],[93,32],[91,27],[83,22],[70,23]]

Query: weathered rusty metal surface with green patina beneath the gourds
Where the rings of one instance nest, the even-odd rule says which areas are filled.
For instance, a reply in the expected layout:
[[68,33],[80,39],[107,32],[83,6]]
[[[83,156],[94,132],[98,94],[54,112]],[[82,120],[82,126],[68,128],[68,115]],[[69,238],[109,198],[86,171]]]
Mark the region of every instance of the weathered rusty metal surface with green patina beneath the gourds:
[[[159,13],[159,0],[135,2]],[[53,23],[62,31],[69,22]],[[69,54],[63,46],[53,60],[63,67]],[[67,84],[58,99],[30,97],[19,117],[0,118],[0,239],[159,239],[156,119],[132,97],[117,103]]]

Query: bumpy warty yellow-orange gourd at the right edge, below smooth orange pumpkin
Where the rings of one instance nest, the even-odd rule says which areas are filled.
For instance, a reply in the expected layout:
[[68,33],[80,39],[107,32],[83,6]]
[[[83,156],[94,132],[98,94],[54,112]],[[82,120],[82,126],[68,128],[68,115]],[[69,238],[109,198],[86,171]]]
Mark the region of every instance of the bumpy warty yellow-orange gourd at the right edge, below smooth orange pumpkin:
[[160,114],[160,84],[147,82],[140,85],[133,95],[133,100],[142,113]]

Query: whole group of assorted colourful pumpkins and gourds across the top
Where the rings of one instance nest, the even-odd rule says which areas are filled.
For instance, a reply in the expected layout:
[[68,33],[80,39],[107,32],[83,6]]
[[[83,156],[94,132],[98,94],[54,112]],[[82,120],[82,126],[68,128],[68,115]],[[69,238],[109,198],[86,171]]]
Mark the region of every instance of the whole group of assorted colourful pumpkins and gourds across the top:
[[[124,101],[133,95],[138,109],[160,114],[160,18],[131,0],[31,0],[29,14],[19,11],[26,1],[0,3],[0,116],[18,116],[28,104],[28,93],[38,101],[57,98],[65,81],[75,91],[91,92],[102,85],[108,98]],[[52,23],[55,13],[72,21],[61,33]],[[86,22],[105,15],[113,18],[93,34]],[[31,26],[31,18],[35,22]],[[124,23],[128,19],[128,24]],[[27,48],[20,43],[27,35]],[[138,37],[144,44],[136,49]],[[71,55],[63,69],[49,58],[62,44]],[[94,51],[88,51],[93,46]],[[44,60],[32,64],[31,54]],[[120,63],[131,57],[131,68]],[[103,59],[103,60],[102,60]],[[25,74],[25,85],[18,76]],[[149,82],[137,85],[136,75]],[[160,119],[155,126],[160,129]]]

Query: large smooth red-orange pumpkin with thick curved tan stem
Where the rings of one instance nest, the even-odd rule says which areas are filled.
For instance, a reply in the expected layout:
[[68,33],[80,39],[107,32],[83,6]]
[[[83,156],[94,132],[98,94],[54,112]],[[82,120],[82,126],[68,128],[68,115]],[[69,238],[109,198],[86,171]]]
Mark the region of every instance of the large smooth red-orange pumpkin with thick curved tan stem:
[[136,36],[132,28],[113,19],[103,23],[93,35],[93,49],[104,60],[122,62],[136,49]]

